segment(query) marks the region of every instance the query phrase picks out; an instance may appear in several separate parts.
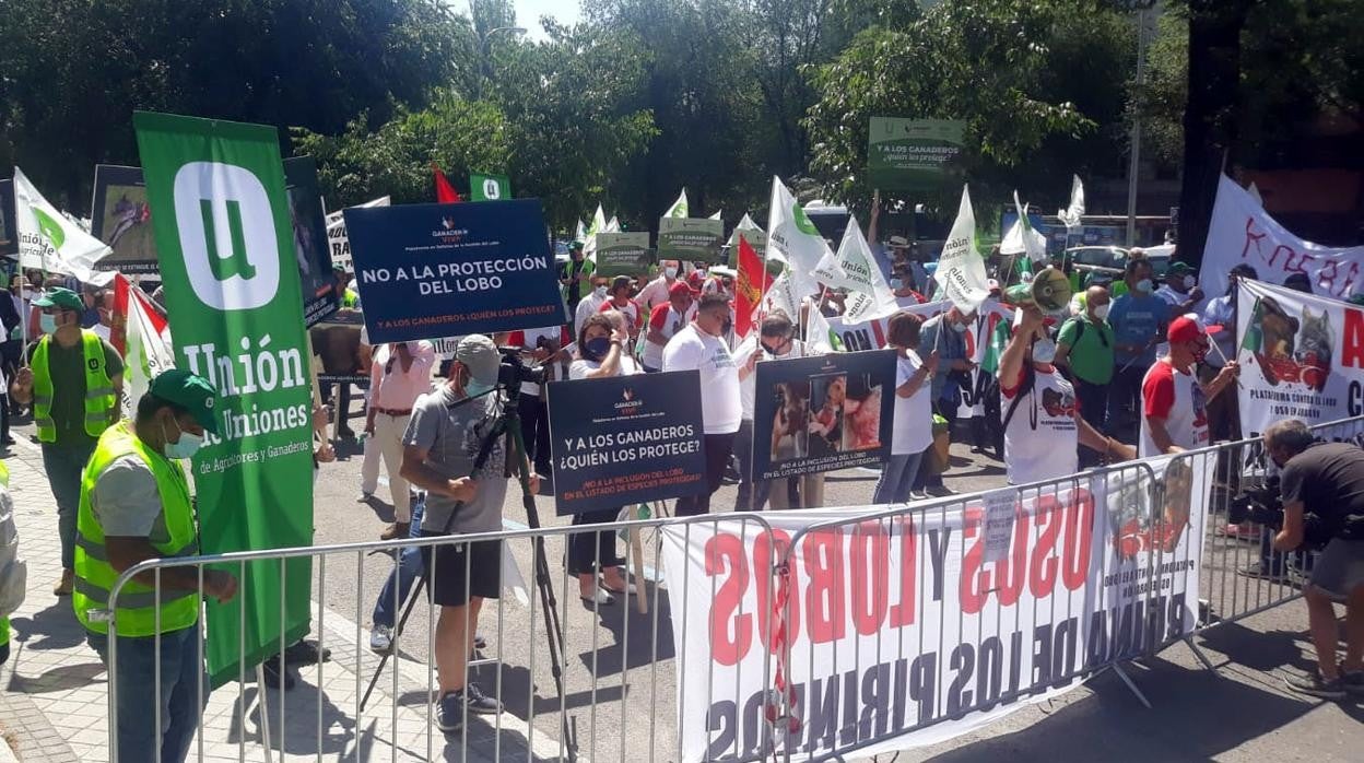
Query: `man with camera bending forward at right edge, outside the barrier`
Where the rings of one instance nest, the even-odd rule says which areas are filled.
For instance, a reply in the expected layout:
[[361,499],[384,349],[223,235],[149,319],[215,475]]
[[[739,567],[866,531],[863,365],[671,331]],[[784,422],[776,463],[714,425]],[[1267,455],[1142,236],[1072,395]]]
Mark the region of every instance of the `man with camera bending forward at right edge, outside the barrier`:
[[[1303,588],[1318,672],[1289,678],[1290,689],[1323,699],[1364,695],[1364,449],[1348,442],[1314,442],[1307,424],[1274,422],[1264,449],[1282,468],[1284,528],[1274,549],[1290,551],[1307,538],[1305,515],[1330,535]],[[1335,663],[1334,602],[1345,603],[1345,662]]]

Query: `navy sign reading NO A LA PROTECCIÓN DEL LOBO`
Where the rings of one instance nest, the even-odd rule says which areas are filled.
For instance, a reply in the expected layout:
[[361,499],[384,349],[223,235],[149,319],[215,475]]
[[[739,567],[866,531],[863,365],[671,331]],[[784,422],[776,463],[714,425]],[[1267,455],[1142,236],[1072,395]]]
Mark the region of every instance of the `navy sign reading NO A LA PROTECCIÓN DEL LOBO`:
[[372,344],[566,321],[539,199],[344,210]]

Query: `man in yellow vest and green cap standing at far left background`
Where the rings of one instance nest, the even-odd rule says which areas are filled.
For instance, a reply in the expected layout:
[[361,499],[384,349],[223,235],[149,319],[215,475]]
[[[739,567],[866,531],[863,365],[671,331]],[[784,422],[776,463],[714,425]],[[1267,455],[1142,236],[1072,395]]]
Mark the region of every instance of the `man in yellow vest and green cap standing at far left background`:
[[20,405],[33,401],[33,423],[42,445],[42,468],[57,500],[61,536],[61,580],[52,592],[71,594],[75,561],[76,505],[80,470],[95,440],[119,420],[123,358],[100,334],[80,328],[85,300],[71,289],[52,288],[33,300],[42,310],[42,339],[29,367],[15,374],[10,394]]

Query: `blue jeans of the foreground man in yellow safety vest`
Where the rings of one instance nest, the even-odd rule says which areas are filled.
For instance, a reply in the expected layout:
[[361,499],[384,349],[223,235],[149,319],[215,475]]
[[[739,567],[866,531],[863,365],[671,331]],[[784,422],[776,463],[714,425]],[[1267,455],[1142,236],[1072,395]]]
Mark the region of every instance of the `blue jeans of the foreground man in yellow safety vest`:
[[[190,753],[190,740],[209,689],[198,635],[198,625],[161,635],[161,728],[157,729],[153,704],[157,699],[157,639],[120,636],[119,665],[109,667],[109,637],[86,633],[116,682],[119,760],[155,760],[158,747],[162,763],[180,763]],[[205,693],[195,702],[201,677]]]

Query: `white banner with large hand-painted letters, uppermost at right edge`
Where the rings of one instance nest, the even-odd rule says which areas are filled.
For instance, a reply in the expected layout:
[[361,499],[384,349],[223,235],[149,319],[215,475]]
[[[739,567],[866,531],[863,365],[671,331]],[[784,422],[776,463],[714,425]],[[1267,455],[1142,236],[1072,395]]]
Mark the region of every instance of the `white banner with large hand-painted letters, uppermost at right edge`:
[[1269,284],[1307,273],[1319,295],[1349,299],[1364,291],[1364,246],[1323,247],[1294,236],[1224,175],[1203,248],[1199,272],[1203,291],[1224,293],[1228,274],[1241,262],[1255,268],[1259,280]]

